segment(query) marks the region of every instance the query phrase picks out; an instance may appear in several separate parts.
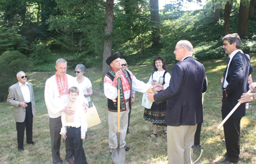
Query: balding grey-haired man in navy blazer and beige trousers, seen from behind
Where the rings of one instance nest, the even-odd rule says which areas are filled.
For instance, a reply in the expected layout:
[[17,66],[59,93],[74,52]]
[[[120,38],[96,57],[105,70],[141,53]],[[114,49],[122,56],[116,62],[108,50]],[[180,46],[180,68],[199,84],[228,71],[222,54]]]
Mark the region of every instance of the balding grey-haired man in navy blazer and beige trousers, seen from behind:
[[167,100],[166,120],[169,163],[190,164],[190,149],[198,123],[203,123],[202,93],[207,89],[205,68],[193,59],[191,42],[177,42],[174,54],[180,61],[172,68],[170,86],[148,100]]

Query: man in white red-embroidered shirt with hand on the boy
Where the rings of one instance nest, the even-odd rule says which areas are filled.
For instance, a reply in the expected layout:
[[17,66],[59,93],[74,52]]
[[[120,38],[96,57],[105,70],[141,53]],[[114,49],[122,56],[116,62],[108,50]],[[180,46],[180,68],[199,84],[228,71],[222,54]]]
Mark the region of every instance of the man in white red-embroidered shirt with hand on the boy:
[[[65,59],[57,59],[56,61],[56,73],[52,77],[46,80],[46,88],[44,89],[44,100],[49,114],[49,129],[51,135],[51,147],[52,147],[52,162],[63,163],[60,158],[60,129],[61,124],[61,111],[68,115],[74,114],[72,107],[64,106],[69,101],[68,90],[71,87],[78,87],[78,83],[71,75],[66,74],[67,61]],[[80,89],[81,90],[81,89]],[[84,109],[88,109],[88,101],[82,93],[77,98],[79,103],[83,103]],[[68,142],[65,142],[66,156],[65,159],[69,163],[74,163],[72,152]]]

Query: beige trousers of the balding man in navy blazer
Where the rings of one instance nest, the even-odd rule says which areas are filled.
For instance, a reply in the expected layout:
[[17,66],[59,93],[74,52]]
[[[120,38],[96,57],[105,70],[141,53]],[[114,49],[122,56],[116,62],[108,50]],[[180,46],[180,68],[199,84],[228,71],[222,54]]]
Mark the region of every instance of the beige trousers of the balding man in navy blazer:
[[167,126],[167,152],[169,164],[191,164],[190,150],[194,144],[195,126]]

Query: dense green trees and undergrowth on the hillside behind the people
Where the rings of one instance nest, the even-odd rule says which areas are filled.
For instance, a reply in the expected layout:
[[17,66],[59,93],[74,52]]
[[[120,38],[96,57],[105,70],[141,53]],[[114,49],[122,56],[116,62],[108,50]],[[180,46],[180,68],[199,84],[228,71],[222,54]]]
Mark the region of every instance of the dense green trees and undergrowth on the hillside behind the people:
[[[175,63],[177,41],[189,40],[199,61],[226,57],[221,40],[223,17],[212,23],[214,11],[210,1],[203,10],[180,10],[189,1],[192,0],[172,0],[166,10],[159,12],[161,40],[154,48],[151,48],[154,23],[150,18],[150,1],[115,3],[113,32],[109,35],[113,38],[112,53],[119,51],[132,65],[151,64],[158,55],[167,63]],[[67,59],[72,69],[78,63],[100,66],[106,24],[104,5],[103,0],[3,0],[0,2],[0,54],[19,50],[32,57],[35,67],[30,71],[54,71],[57,58]],[[237,32],[238,9],[239,3],[235,3],[230,14],[230,33]],[[254,16],[249,20],[249,36],[242,39],[241,49],[245,53],[256,52],[255,31]]]

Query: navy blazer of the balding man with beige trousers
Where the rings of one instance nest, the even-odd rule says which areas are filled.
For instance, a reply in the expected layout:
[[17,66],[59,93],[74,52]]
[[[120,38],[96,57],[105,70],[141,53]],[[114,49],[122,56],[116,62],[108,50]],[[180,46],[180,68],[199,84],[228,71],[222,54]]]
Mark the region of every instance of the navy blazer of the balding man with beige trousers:
[[154,95],[156,103],[167,100],[165,124],[193,126],[203,123],[202,93],[206,89],[203,64],[190,56],[175,64],[169,87]]

